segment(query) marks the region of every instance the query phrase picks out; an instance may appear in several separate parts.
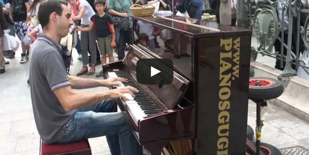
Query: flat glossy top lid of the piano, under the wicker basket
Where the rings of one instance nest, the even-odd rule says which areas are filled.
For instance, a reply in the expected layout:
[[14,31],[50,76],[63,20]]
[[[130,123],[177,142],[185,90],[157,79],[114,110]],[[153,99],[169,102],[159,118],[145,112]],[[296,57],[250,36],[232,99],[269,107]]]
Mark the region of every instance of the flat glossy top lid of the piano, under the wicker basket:
[[166,17],[156,15],[144,17],[132,15],[132,17],[138,20],[146,21],[161,28],[166,28],[169,30],[184,33],[188,37],[215,37],[224,36],[226,33],[228,35],[233,35],[234,33],[237,33],[237,35],[239,35],[239,33],[252,33],[251,30],[243,28],[221,25],[205,20],[198,20],[177,15],[171,15]]

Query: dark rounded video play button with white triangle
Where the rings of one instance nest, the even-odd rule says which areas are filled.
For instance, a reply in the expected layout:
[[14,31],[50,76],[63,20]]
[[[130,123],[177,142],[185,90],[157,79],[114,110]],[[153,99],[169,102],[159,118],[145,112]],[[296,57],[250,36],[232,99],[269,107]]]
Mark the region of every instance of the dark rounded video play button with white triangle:
[[139,59],[136,79],[139,84],[171,84],[174,77],[171,59]]

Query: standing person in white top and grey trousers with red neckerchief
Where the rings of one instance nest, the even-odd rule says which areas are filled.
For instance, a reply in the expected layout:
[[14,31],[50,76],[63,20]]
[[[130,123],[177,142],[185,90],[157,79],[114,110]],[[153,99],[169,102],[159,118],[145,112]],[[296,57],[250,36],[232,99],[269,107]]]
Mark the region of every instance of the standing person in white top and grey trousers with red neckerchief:
[[[95,15],[92,7],[86,0],[68,0],[69,9],[72,12],[72,18],[74,20],[81,19],[81,27],[88,27],[90,24],[91,16]],[[95,63],[96,63],[96,34],[95,28],[93,27],[91,31],[82,31],[80,33],[81,40],[81,51],[83,68],[76,74],[77,76],[87,74],[92,75],[95,73]],[[89,64],[88,58],[88,43],[89,43],[89,53],[91,56],[91,67],[88,71],[87,64]]]

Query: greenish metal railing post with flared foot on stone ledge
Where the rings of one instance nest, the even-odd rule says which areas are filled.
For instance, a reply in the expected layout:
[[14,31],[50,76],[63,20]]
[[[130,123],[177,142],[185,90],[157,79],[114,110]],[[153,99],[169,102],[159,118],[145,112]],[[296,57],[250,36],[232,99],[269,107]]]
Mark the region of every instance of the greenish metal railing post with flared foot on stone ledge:
[[287,76],[295,76],[296,72],[292,69],[291,47],[292,47],[292,28],[293,28],[293,15],[292,15],[292,0],[289,0],[289,34],[288,34],[288,49],[286,54],[286,66],[283,72],[278,76],[278,79]]

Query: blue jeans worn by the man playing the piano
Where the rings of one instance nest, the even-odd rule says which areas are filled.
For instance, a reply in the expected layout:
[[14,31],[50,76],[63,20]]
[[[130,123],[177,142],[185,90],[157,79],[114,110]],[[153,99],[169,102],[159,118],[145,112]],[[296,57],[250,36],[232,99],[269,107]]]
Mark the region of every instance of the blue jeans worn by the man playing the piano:
[[79,109],[62,128],[65,136],[59,143],[106,136],[112,155],[142,155],[133,131],[122,112],[117,111],[114,99]]

